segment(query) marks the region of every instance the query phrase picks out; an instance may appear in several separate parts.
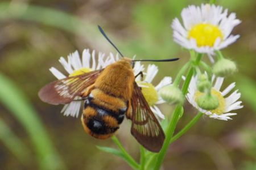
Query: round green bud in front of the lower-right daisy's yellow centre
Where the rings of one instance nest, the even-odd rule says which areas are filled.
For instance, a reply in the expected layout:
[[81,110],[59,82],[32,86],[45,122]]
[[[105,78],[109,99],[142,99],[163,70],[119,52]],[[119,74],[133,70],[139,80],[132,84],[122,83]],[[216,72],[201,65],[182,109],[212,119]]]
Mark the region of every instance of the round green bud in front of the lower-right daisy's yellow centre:
[[197,105],[207,111],[218,107],[218,98],[213,95],[203,94],[196,99]]

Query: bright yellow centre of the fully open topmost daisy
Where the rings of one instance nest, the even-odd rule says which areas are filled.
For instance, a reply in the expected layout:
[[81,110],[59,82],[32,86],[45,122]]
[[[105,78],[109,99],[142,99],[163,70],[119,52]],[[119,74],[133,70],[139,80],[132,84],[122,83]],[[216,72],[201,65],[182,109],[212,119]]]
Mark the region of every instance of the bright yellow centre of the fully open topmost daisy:
[[188,32],[188,39],[195,39],[197,46],[213,46],[218,37],[223,39],[220,29],[212,24],[197,24]]

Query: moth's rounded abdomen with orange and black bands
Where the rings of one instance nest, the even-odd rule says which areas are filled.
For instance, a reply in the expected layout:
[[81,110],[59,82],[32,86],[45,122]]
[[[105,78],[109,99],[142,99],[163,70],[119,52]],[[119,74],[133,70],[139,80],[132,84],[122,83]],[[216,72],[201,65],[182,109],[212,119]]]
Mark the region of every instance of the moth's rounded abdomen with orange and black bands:
[[122,123],[126,109],[127,101],[96,88],[85,99],[82,125],[93,137],[109,138]]

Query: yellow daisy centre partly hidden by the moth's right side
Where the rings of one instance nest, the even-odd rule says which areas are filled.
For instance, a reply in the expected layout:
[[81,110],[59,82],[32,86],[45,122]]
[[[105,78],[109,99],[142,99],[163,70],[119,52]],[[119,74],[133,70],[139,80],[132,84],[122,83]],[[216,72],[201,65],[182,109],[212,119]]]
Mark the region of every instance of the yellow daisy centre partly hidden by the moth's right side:
[[155,90],[155,87],[151,83],[138,82],[142,86],[142,94],[145,97],[148,105],[152,106],[158,101],[158,92]]

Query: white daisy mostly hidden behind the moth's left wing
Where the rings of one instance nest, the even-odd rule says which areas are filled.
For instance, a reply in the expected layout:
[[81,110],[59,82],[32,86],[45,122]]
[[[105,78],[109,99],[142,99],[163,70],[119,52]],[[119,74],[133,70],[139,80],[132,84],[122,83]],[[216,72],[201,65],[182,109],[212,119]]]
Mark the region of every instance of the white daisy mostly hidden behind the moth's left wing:
[[[112,53],[110,53],[110,56],[105,60],[104,56],[104,53],[99,52],[98,59],[96,61],[96,52],[93,50],[92,53],[90,53],[89,49],[85,49],[82,52],[82,59],[80,58],[79,53],[75,51],[74,53],[69,54],[67,61],[64,59],[64,57],[60,57],[59,62],[69,74],[68,76],[75,76],[104,68],[110,63],[114,63],[118,59],[118,54],[117,56],[114,56]],[[55,67],[51,67],[49,70],[57,79],[67,77]],[[75,97],[75,100],[77,99],[81,99],[81,97]],[[65,104],[61,110],[61,113],[64,113],[64,116],[78,117],[82,103],[83,101],[72,101],[69,104]]]

